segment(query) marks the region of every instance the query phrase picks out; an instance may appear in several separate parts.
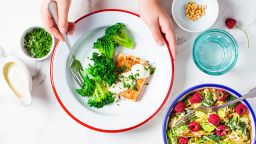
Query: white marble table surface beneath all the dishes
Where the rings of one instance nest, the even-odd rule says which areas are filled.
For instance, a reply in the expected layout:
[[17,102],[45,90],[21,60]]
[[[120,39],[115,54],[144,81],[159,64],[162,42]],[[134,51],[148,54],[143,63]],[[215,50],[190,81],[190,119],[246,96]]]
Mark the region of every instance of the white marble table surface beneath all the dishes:
[[[165,0],[170,12],[171,1]],[[60,107],[50,86],[49,59],[31,62],[21,55],[19,40],[29,26],[42,25],[41,0],[0,1],[0,46],[9,55],[21,57],[33,75],[33,103],[23,107],[11,101],[0,88],[0,144],[161,144],[162,120],[168,105],[181,91],[201,83],[219,83],[246,93],[256,86],[256,1],[219,0],[220,15],[214,28],[225,29],[226,17],[235,17],[248,32],[251,48],[247,48],[244,34],[228,30],[239,45],[236,66],[223,76],[202,73],[192,60],[192,43],[198,34],[187,33],[175,25],[178,55],[175,63],[175,82],[164,108],[145,125],[128,132],[106,134],[87,129],[71,119]],[[73,0],[70,20],[101,8],[120,8],[138,11],[131,0]],[[249,101],[256,110],[256,99]]]

